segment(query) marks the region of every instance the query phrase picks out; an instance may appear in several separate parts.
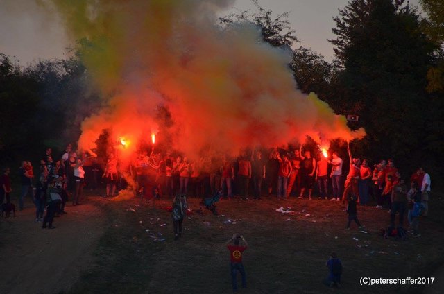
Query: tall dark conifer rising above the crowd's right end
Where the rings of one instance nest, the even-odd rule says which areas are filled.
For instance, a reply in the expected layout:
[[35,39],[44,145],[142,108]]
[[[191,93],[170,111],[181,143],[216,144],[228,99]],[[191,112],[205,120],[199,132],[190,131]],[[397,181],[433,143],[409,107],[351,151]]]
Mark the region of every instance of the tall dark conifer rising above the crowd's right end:
[[328,102],[340,113],[359,115],[368,133],[364,154],[398,157],[408,167],[424,155],[426,76],[435,46],[416,10],[403,2],[353,0],[334,17],[336,39],[330,42],[339,71]]

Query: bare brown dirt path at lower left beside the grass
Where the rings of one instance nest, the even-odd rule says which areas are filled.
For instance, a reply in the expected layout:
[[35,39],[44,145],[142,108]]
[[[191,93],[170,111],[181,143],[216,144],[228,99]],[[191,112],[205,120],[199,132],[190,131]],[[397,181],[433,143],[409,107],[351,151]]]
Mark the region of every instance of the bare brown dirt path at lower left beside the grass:
[[0,293],[67,291],[94,264],[103,213],[92,204],[68,205],[65,211],[55,218],[54,230],[35,223],[31,202],[15,218],[0,220]]

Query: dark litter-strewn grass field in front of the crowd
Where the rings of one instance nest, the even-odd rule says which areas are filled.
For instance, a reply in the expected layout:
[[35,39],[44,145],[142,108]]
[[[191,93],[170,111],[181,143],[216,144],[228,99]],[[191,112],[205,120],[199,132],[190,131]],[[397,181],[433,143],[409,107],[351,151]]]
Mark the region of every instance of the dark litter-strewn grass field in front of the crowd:
[[[70,293],[232,293],[225,242],[234,233],[249,243],[248,288],[239,293],[420,293],[421,286],[360,286],[359,277],[429,277],[444,261],[444,201],[436,194],[429,218],[420,220],[422,237],[408,241],[379,235],[387,210],[358,207],[365,234],[356,224],[344,230],[345,205],[295,198],[221,200],[219,216],[196,213],[199,200],[189,198],[193,212],[182,239],[174,241],[170,200],[89,199],[103,209],[108,227],[96,265]],[[295,214],[276,212],[281,206]],[[332,251],[343,261],[341,290],[322,284]]]

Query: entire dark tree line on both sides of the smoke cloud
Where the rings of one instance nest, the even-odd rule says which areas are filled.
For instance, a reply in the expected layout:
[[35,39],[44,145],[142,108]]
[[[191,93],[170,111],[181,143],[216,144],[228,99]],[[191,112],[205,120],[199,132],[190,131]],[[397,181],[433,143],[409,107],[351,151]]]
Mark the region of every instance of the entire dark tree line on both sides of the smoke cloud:
[[[298,88],[315,92],[336,114],[355,114],[350,128],[366,128],[354,154],[393,157],[400,168],[424,166],[444,175],[444,9],[421,0],[421,15],[404,0],[352,0],[334,17],[335,58],[299,44],[288,13],[221,17],[223,26],[250,21],[262,40],[287,47]],[[79,42],[82,44],[82,42]],[[81,50],[68,60],[41,60],[26,68],[0,53],[0,164],[32,157],[45,146],[75,141],[80,123],[103,99],[91,86]],[[39,153],[37,152],[37,155]]]

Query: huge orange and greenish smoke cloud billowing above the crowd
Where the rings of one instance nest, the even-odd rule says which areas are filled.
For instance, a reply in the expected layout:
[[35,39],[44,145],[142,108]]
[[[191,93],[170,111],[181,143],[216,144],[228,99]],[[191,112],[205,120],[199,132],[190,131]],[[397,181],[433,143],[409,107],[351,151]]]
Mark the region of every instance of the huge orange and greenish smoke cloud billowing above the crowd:
[[[171,111],[171,148],[196,155],[203,147],[234,153],[261,144],[318,143],[352,132],[316,94],[302,94],[289,70],[291,54],[261,39],[253,24],[218,26],[224,0],[53,1],[83,52],[103,96],[101,112],[83,123],[80,148],[105,128],[116,140],[149,139],[157,105]],[[117,94],[116,94],[117,93]],[[162,139],[162,138],[161,138]],[[154,143],[154,139],[153,139]],[[126,146],[128,153],[137,144]]]

